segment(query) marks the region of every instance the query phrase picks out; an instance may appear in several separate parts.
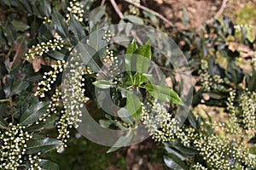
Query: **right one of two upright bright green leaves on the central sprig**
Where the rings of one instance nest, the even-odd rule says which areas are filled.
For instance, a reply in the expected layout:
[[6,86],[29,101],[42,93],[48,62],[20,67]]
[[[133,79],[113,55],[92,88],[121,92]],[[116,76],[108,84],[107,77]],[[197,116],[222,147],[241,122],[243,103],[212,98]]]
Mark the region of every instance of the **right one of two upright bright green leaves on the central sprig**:
[[138,73],[146,73],[148,71],[148,66],[150,65],[152,52],[149,45],[149,41],[146,42],[143,47],[137,53],[136,68]]

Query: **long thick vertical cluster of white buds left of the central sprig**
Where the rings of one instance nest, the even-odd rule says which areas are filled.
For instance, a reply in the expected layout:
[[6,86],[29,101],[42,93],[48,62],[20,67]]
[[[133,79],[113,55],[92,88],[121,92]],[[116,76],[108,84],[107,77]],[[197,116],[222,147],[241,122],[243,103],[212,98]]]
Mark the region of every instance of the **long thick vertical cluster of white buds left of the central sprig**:
[[84,96],[84,75],[93,71],[90,68],[83,65],[83,62],[79,62],[81,54],[75,49],[72,52],[73,58],[71,58],[69,64],[67,64],[66,77],[68,83],[64,89],[62,96],[64,102],[64,109],[68,114],[69,122],[74,127],[79,127],[79,122],[82,122],[80,117],[82,116],[81,109],[84,104],[89,100],[88,97]]

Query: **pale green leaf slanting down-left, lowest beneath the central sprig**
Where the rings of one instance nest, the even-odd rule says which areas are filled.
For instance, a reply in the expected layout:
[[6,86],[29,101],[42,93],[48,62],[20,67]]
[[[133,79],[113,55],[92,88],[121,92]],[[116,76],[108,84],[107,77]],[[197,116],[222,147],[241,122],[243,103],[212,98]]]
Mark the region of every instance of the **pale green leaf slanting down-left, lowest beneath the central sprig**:
[[129,130],[129,132],[125,136],[121,136],[114,144],[113,146],[107,151],[107,153],[113,152],[115,150],[119,150],[119,148],[129,144],[131,142],[131,139],[133,137],[132,130]]

